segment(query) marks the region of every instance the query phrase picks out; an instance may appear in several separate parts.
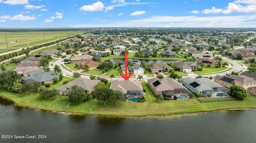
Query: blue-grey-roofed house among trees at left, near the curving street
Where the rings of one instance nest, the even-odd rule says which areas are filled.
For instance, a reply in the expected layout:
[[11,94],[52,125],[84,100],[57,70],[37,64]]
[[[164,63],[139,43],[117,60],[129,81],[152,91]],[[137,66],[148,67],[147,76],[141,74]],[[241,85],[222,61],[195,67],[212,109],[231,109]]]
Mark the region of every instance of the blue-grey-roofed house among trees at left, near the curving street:
[[58,75],[55,75],[54,71],[44,72],[43,70],[36,70],[27,72],[27,76],[21,78],[22,82],[26,81],[35,81],[40,84],[53,83],[53,78],[60,78]]

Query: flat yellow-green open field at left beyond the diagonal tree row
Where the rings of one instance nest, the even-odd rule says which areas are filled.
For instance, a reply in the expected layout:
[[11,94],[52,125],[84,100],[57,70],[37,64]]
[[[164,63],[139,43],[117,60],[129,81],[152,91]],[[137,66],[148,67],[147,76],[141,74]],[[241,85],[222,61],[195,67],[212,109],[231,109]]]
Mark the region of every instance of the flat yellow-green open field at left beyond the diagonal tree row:
[[[29,31],[29,32],[0,32],[0,47],[25,48],[33,45],[58,40],[70,35],[84,33],[84,31]],[[71,34],[72,33],[72,34]],[[6,38],[5,38],[6,35]],[[28,37],[28,38],[27,38]],[[17,41],[17,42],[16,42]]]

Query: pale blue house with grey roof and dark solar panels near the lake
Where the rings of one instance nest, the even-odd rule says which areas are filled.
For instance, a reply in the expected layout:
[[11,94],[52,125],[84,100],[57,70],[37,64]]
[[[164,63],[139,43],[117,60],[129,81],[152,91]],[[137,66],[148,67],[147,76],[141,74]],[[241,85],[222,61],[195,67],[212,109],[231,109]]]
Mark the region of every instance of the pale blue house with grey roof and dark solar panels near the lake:
[[193,93],[202,94],[202,96],[216,96],[217,93],[229,92],[224,86],[210,80],[209,78],[191,78],[186,77],[180,80],[180,83]]

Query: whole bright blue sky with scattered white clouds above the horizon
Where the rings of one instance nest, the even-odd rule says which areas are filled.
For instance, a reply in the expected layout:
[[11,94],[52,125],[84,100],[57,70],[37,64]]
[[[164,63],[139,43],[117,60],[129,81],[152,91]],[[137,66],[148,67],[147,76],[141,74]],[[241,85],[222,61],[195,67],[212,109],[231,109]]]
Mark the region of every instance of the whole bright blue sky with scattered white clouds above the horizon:
[[0,0],[5,27],[256,27],[256,0]]

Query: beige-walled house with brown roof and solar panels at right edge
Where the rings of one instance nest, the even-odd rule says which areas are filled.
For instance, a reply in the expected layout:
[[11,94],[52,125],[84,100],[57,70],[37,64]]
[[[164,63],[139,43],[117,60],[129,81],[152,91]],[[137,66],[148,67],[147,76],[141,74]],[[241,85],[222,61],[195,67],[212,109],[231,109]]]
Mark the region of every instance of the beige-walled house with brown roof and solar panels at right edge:
[[232,76],[220,76],[216,75],[214,77],[214,81],[217,82],[218,84],[225,86],[227,88],[230,88],[232,85],[238,85],[242,86],[248,93],[250,94],[256,94],[256,80],[244,76],[244,75],[235,75],[233,74]]

